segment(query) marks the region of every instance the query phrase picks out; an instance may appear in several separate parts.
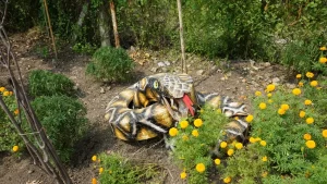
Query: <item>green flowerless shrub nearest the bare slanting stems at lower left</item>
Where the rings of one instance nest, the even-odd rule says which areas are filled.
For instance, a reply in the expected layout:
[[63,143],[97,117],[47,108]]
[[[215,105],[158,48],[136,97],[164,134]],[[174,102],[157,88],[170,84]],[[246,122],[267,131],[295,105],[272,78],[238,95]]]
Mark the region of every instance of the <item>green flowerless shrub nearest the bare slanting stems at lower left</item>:
[[87,127],[85,108],[76,99],[66,96],[37,97],[32,106],[59,157],[68,162],[74,144]]

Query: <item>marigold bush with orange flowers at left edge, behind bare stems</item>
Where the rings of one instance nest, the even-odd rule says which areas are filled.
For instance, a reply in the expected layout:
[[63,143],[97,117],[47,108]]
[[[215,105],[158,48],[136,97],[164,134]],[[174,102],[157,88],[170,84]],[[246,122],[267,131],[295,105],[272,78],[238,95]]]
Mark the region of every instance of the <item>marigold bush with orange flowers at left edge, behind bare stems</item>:
[[[16,101],[12,91],[7,90],[4,87],[0,87],[0,98],[3,99],[9,110],[15,115],[19,115],[19,110]],[[23,140],[21,136],[16,133],[13,124],[10,122],[8,115],[4,113],[2,108],[0,108],[0,151],[9,151],[13,146],[23,146]]]

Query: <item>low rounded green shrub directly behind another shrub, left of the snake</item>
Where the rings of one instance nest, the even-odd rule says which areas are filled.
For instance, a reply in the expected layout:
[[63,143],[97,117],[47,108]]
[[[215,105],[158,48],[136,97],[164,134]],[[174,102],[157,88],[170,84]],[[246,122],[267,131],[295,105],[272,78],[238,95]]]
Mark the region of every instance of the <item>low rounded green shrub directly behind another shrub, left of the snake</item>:
[[62,74],[44,70],[32,71],[28,76],[28,91],[33,97],[66,95],[74,96],[74,83]]

